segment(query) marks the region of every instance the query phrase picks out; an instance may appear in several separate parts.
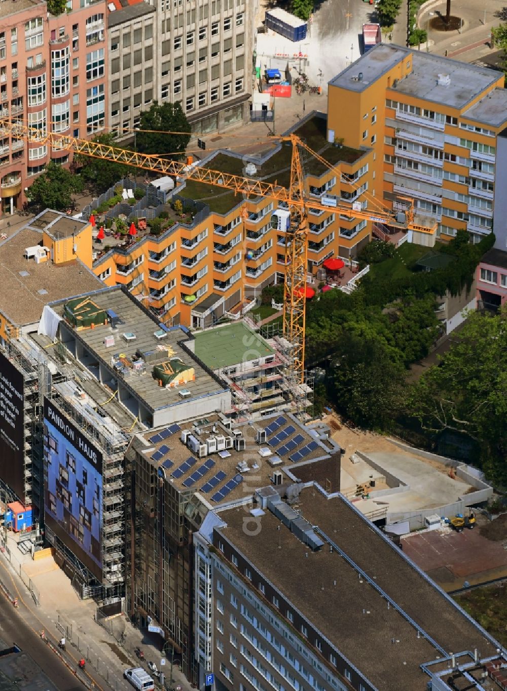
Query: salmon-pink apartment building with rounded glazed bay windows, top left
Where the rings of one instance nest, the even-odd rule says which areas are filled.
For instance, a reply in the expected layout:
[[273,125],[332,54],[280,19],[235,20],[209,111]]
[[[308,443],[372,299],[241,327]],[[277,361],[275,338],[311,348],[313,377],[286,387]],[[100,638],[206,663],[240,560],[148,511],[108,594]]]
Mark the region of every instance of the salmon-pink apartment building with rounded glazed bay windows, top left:
[[[106,125],[105,0],[69,0],[59,17],[41,0],[0,4],[0,116],[41,132],[86,138]],[[12,214],[48,161],[68,151],[10,138],[0,129],[1,211]]]

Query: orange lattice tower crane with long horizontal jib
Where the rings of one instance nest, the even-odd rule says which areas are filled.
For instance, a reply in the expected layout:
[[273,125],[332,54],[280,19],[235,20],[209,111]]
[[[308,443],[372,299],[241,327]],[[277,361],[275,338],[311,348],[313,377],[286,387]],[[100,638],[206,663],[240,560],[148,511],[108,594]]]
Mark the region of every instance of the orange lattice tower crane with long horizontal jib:
[[[306,309],[306,269],[308,253],[308,209],[330,211],[329,205],[310,199],[305,189],[301,151],[306,150],[317,158],[328,169],[335,168],[297,135],[290,134],[277,138],[292,144],[292,162],[290,167],[290,185],[288,188],[271,182],[263,182],[245,176],[231,175],[201,166],[188,166],[179,161],[167,160],[157,155],[138,153],[119,149],[117,146],[100,144],[89,140],[70,137],[57,133],[45,133],[19,122],[0,119],[0,131],[15,139],[26,140],[37,144],[48,144],[53,148],[66,149],[103,160],[123,163],[143,170],[162,173],[166,176],[187,178],[197,182],[225,187],[242,195],[245,200],[258,197],[271,197],[282,202],[290,212],[290,227],[286,231],[286,280],[284,297],[284,337],[290,344],[290,379],[293,384],[304,384],[304,343],[305,343],[305,309]],[[436,224],[420,225],[415,223],[413,201],[399,198],[404,205],[401,212],[387,209],[375,198],[370,197],[372,205],[378,210],[368,211],[355,205],[347,205],[337,200],[332,209],[348,218],[365,218],[373,223],[381,223],[397,229],[414,230],[421,233],[433,233]]]

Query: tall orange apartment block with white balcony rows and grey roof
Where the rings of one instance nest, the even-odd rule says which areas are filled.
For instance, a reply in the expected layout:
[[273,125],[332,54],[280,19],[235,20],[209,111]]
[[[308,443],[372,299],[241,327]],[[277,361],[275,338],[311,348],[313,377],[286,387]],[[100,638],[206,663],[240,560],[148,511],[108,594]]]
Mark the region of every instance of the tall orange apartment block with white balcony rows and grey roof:
[[379,44],[331,80],[328,114],[328,138],[372,148],[379,203],[396,209],[400,197],[412,198],[443,240],[458,229],[474,242],[490,233],[495,189],[504,187],[504,75]]

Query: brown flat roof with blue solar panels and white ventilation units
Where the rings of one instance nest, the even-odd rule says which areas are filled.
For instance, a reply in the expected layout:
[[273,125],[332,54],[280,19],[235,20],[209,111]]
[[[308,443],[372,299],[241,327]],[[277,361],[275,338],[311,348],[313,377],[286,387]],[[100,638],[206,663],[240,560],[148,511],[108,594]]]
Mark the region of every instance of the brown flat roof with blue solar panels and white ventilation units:
[[[281,422],[282,420],[284,422]],[[272,424],[276,421],[280,424],[276,429],[273,429]],[[267,433],[266,442],[257,443],[257,430],[266,428],[272,430],[272,434]],[[197,429],[199,433],[197,433]],[[213,431],[214,429],[215,431]],[[141,444],[137,446],[137,450],[149,459],[150,463],[154,464],[157,469],[162,468],[161,473],[163,473],[163,476],[173,486],[177,487],[179,491],[199,492],[200,498],[208,502],[213,509],[216,509],[221,504],[252,496],[255,489],[272,482],[271,478],[275,470],[284,471],[284,468],[288,468],[289,471],[296,472],[297,467],[301,463],[319,458],[329,458],[332,453],[337,451],[337,448],[332,447],[332,442],[330,444],[328,442],[329,446],[326,446],[324,442],[317,440],[312,435],[309,428],[302,425],[295,417],[288,413],[283,415],[275,413],[270,417],[264,418],[262,422],[256,422],[255,426],[241,424],[234,426],[232,429],[241,431],[241,436],[246,442],[244,451],[228,448],[225,453],[206,453],[206,455],[199,458],[195,453],[192,453],[186,444],[183,444],[181,441],[183,430],[189,430],[201,443],[205,443],[208,437],[220,435],[234,438],[232,431],[223,425],[218,415],[206,415],[206,417],[195,418],[185,423],[181,422],[176,426],[168,425],[155,430],[148,430],[138,435]],[[287,430],[287,435],[285,430]],[[275,438],[279,435],[284,437],[284,441],[278,443],[275,441]],[[290,451],[277,455],[277,451],[284,444],[288,444],[290,439],[295,439],[297,444],[291,445]],[[301,457],[299,462],[289,460],[292,454],[298,453],[298,451],[311,444],[311,442],[317,442],[317,444],[313,444],[312,450],[304,457]],[[270,452],[269,455],[266,455],[266,450]],[[262,453],[259,453],[261,451]],[[272,460],[274,457],[277,457],[279,461],[277,465],[272,466],[270,459]],[[192,459],[190,464],[183,466],[189,459]],[[209,464],[210,467],[204,471],[203,475],[195,483],[185,484],[188,478],[208,461],[212,461],[212,464]],[[246,463],[248,470],[241,470],[239,468],[241,462]],[[182,466],[183,471],[180,472],[179,468],[182,468]],[[217,481],[214,487],[208,489],[206,483],[220,471],[225,474]],[[175,475],[172,475],[172,473],[175,473]],[[238,476],[243,477],[244,483],[240,480],[226,496],[214,499],[217,491]],[[286,476],[286,480],[287,478],[288,476]],[[292,483],[292,480],[289,480],[289,482]]]

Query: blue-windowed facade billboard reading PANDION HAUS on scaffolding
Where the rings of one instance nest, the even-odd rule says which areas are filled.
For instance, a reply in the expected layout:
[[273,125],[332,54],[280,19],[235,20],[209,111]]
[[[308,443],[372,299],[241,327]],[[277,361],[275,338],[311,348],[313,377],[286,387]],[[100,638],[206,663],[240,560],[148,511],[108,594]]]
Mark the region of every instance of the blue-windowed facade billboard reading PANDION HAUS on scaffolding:
[[44,399],[46,524],[102,580],[102,454]]

